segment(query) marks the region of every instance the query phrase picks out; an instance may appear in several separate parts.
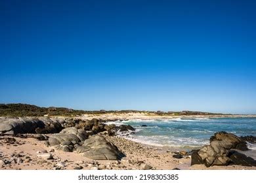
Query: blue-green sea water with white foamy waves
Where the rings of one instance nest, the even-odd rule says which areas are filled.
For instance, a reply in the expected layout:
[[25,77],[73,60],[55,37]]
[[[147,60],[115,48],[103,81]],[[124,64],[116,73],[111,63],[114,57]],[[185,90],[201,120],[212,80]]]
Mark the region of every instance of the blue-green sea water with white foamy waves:
[[[134,134],[124,136],[132,141],[184,149],[193,149],[209,144],[209,138],[218,131],[227,131],[238,136],[256,136],[256,118],[175,118],[109,123],[135,127]],[[141,125],[147,126],[142,127]],[[252,150],[256,150],[255,144],[248,144],[248,146]]]

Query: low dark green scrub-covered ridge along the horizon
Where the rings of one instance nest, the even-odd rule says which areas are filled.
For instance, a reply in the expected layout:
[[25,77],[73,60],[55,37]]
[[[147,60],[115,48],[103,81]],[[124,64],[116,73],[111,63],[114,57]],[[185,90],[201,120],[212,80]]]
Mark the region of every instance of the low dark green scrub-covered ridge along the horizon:
[[146,111],[146,110],[74,110],[65,107],[37,107],[35,105],[21,104],[21,103],[11,103],[11,104],[0,104],[0,116],[81,116],[82,114],[105,114],[105,113],[129,113],[129,112],[143,112],[150,115],[159,116],[170,116],[170,115],[218,115],[209,112],[196,112],[196,111],[182,111],[182,112],[162,112],[158,110]]

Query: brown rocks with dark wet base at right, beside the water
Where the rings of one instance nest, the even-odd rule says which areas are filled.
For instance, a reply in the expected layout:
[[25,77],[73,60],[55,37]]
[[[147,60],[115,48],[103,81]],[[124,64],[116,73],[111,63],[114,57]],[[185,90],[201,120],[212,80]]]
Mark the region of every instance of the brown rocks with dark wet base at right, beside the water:
[[214,165],[243,165],[256,166],[253,158],[247,157],[238,150],[248,150],[246,137],[240,138],[224,131],[215,133],[210,144],[192,153],[191,165],[204,164],[206,167]]

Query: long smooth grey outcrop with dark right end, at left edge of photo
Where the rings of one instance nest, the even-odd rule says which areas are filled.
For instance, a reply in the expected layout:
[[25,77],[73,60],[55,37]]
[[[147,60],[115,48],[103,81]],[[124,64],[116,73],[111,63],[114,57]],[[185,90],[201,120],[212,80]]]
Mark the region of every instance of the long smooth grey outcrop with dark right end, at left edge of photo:
[[0,118],[0,134],[58,133],[62,125],[51,118]]

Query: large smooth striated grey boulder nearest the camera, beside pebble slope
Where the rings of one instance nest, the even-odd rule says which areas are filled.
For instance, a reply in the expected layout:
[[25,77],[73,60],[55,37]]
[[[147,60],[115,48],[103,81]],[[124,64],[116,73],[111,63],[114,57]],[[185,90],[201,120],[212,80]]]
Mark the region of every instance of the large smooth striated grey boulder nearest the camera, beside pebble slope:
[[98,160],[117,160],[123,157],[123,153],[112,143],[102,136],[93,136],[85,140],[83,146],[77,148],[83,156]]

